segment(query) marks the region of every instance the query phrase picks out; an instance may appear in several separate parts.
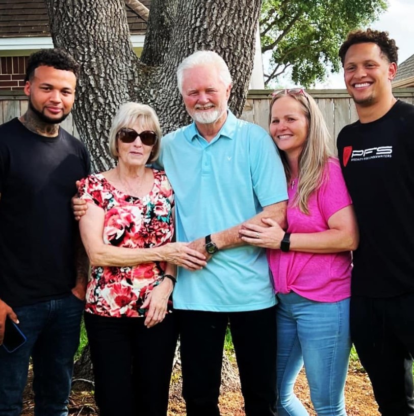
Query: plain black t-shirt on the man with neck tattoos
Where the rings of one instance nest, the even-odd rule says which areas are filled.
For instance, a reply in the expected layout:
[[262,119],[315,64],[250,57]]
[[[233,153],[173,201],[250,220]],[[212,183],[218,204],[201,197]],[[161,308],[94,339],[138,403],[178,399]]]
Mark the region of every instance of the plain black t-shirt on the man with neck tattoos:
[[89,171],[85,146],[64,129],[44,137],[17,118],[0,126],[0,299],[11,307],[66,296],[75,285],[70,200]]

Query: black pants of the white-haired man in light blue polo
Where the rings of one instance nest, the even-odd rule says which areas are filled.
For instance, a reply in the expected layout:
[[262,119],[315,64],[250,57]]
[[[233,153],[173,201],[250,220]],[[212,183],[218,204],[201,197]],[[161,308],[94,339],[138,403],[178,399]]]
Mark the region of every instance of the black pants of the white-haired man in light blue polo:
[[175,311],[187,416],[220,416],[218,398],[227,323],[247,416],[276,414],[275,307],[249,312]]

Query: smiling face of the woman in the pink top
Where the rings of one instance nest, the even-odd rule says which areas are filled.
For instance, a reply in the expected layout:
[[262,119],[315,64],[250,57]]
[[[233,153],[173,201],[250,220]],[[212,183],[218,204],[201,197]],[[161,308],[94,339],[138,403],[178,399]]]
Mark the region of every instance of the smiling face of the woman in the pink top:
[[272,106],[269,130],[280,150],[289,157],[299,157],[308,133],[301,104],[289,95],[277,99]]

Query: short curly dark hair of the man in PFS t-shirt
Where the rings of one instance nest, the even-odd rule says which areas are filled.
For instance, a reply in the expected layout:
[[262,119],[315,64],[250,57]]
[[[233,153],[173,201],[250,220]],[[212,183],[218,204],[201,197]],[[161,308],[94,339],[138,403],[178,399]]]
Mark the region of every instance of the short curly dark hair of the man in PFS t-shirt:
[[341,58],[342,66],[344,65],[345,55],[352,45],[369,42],[376,43],[390,63],[398,63],[398,47],[395,44],[395,40],[390,39],[388,32],[380,32],[372,29],[363,31],[359,29],[348,33],[345,42],[339,49],[339,57]]

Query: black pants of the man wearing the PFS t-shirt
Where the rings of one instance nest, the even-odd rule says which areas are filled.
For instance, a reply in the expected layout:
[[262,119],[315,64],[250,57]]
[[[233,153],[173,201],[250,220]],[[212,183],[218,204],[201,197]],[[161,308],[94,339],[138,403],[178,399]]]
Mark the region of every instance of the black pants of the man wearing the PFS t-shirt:
[[351,337],[382,416],[414,416],[414,294],[352,296]]

